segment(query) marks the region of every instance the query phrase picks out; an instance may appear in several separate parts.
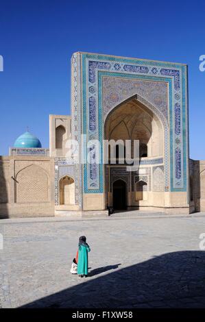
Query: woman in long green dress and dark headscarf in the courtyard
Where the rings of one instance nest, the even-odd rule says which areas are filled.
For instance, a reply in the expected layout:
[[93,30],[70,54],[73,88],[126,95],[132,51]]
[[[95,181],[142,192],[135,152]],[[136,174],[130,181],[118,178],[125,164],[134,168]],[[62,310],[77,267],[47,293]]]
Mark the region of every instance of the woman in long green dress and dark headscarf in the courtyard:
[[77,274],[80,277],[88,275],[88,251],[91,251],[91,249],[86,243],[86,236],[81,236],[79,238],[77,258]]

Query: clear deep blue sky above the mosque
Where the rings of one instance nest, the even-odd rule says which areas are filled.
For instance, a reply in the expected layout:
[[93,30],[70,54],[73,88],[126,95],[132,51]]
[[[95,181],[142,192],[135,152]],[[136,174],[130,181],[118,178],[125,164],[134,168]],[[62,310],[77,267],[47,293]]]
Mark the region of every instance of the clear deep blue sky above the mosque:
[[49,114],[70,114],[71,55],[189,65],[190,156],[205,160],[204,1],[0,1],[0,154],[26,131],[49,147]]

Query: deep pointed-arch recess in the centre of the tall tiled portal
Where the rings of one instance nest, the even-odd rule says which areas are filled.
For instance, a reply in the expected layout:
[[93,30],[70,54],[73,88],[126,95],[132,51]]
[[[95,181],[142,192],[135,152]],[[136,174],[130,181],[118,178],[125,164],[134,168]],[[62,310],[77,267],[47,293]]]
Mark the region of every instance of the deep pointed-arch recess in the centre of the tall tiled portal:
[[[154,106],[138,95],[126,99],[110,110],[106,115],[104,138],[108,140],[108,143],[112,143],[113,140],[115,142],[121,141],[121,143],[124,143],[124,147],[125,143],[129,142],[132,158],[134,158],[134,140],[138,140],[140,164],[136,171],[130,172],[126,160],[121,160],[121,162],[116,160],[116,163],[113,163],[112,161],[115,162],[115,160],[112,160],[109,156],[109,164],[105,164],[104,170],[106,173],[106,202],[108,206],[119,209],[122,199],[126,199],[126,208],[130,209],[164,205],[164,169],[168,169],[167,164],[165,166],[165,162],[167,162],[165,160],[165,149],[168,147],[167,134],[167,121],[162,114],[159,114]],[[110,144],[110,149],[118,151],[117,147],[117,145],[113,147]],[[156,181],[152,177],[152,164],[159,164],[160,168],[163,169],[161,173],[162,188],[158,191],[155,191],[157,188],[152,189],[152,182],[153,180]],[[167,173],[167,178],[169,178],[169,173]],[[113,182],[122,179],[128,182],[129,188],[119,190],[120,192],[124,191],[125,196],[121,195],[118,199],[119,204],[117,204],[116,191],[118,190],[114,190],[112,187],[114,187]],[[137,180],[138,184],[136,184]],[[140,186],[142,182],[145,182],[144,186]],[[143,190],[146,188],[146,191],[143,192],[142,187]],[[159,201],[153,199],[156,193]]]

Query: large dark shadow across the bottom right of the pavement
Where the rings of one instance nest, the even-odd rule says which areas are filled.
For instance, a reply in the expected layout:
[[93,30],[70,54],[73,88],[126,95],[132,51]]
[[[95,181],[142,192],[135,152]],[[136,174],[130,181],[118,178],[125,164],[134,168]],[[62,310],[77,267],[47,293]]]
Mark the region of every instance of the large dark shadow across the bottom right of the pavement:
[[[130,256],[132,252],[130,251]],[[132,258],[133,262],[135,258]],[[97,275],[118,265],[95,269]],[[22,308],[205,308],[205,251],[178,251],[117,269]]]

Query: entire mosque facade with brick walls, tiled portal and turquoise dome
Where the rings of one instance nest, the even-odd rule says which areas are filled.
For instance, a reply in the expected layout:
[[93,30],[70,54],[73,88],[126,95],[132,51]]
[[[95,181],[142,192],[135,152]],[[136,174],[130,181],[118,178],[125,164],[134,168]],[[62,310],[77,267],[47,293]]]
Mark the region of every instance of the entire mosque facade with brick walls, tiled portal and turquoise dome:
[[189,158],[186,64],[74,53],[71,116],[49,116],[49,149],[27,131],[0,157],[0,216],[204,211],[204,170]]

